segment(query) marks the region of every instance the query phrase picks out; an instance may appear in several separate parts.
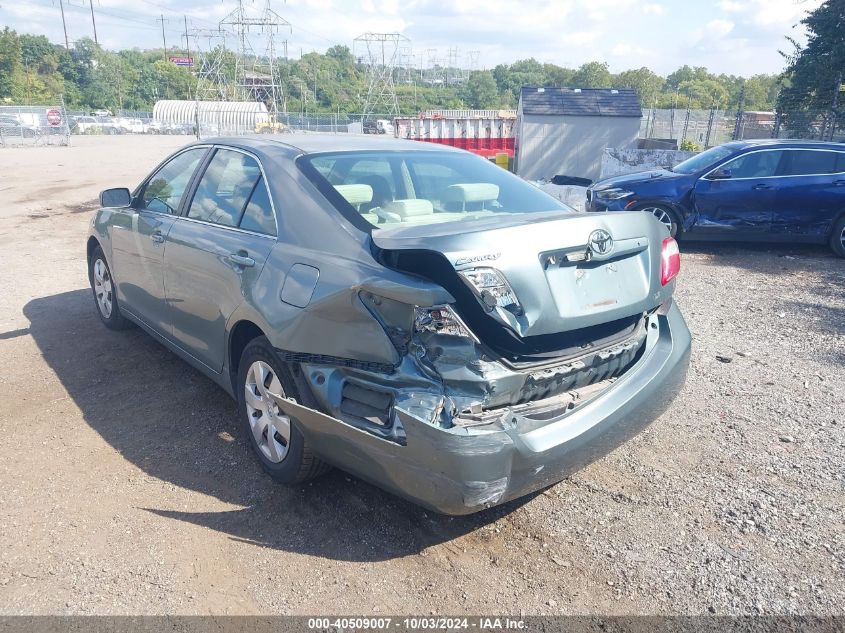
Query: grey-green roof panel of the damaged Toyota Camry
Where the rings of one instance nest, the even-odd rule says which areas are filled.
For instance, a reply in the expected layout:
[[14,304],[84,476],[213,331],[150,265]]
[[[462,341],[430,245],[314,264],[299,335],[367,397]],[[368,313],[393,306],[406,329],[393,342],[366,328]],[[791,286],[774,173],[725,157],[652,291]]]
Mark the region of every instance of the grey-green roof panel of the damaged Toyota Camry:
[[247,134],[236,137],[221,137],[203,139],[200,143],[232,145],[245,149],[268,151],[272,146],[281,146],[294,150],[299,154],[316,154],[320,152],[350,152],[350,151],[441,151],[460,152],[461,150],[448,145],[436,143],[422,143],[393,137],[373,136],[369,134],[285,134],[268,137],[265,134]]

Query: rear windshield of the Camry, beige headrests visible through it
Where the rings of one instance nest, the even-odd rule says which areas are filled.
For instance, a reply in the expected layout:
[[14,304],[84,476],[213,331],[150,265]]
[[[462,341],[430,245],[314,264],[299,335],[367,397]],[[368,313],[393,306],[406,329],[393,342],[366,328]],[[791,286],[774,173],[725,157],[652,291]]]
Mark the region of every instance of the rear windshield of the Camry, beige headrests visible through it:
[[374,228],[572,210],[473,154],[338,152],[300,161],[332,204]]

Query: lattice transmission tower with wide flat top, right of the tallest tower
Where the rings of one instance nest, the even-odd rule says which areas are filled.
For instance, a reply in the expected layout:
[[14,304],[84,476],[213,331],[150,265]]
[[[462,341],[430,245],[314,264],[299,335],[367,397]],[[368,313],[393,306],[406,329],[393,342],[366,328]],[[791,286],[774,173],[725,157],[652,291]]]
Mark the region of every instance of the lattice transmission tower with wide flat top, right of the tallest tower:
[[399,62],[400,48],[410,47],[410,42],[401,33],[364,33],[355,38],[355,54],[367,65],[365,118],[371,114],[399,114],[393,74]]

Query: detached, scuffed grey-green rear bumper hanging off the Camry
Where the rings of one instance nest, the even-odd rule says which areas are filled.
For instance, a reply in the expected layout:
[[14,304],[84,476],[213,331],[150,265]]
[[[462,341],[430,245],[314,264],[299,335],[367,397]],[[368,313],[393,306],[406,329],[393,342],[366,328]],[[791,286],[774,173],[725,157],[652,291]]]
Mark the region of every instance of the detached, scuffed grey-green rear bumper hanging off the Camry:
[[[430,403],[397,402],[402,442],[277,397],[327,461],[445,514],[469,514],[560,481],[641,431],[681,389],[690,333],[677,306],[649,322],[642,357],[600,394],[560,410],[503,407],[495,424],[443,428],[419,416]],[[414,406],[416,404],[416,407]]]

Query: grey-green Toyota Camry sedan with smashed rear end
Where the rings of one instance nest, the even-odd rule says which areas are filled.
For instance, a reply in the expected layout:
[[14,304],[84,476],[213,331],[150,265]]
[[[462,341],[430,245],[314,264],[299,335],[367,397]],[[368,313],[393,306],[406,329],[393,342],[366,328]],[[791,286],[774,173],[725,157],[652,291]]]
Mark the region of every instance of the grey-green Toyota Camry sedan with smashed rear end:
[[575,213],[467,152],[215,139],[100,200],[103,323],[140,325],[232,394],[282,482],[332,464],[474,512],[618,446],[684,381],[665,227]]

